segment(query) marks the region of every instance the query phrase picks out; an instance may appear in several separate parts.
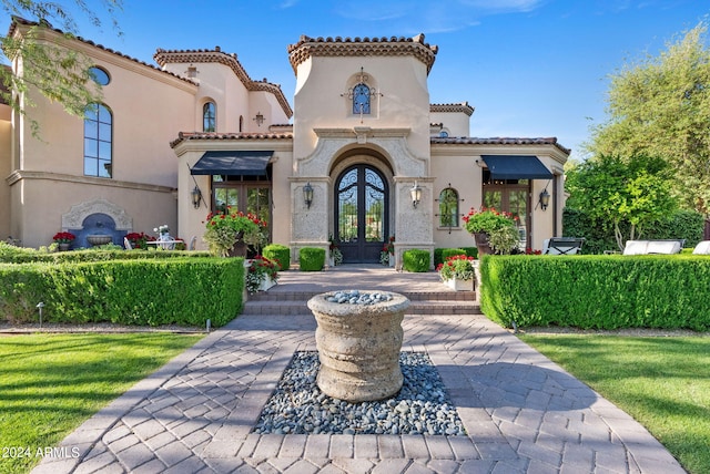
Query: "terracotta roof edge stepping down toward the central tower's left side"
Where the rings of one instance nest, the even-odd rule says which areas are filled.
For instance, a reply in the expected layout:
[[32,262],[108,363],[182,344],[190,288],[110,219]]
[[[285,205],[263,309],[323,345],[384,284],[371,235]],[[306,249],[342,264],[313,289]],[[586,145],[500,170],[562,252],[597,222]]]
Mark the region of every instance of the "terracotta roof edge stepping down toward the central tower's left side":
[[163,50],[159,48],[153,54],[153,59],[161,66],[165,66],[169,63],[206,63],[215,62],[227,65],[232,69],[234,74],[242,81],[242,84],[247,91],[265,91],[271,92],[276,96],[278,104],[282,106],[286,116],[293,116],[293,110],[291,104],[286,100],[281,85],[272,84],[264,78],[262,81],[252,80],[242,63],[236,59],[236,54],[227,54],[222,51],[220,47],[214,47],[213,50]]

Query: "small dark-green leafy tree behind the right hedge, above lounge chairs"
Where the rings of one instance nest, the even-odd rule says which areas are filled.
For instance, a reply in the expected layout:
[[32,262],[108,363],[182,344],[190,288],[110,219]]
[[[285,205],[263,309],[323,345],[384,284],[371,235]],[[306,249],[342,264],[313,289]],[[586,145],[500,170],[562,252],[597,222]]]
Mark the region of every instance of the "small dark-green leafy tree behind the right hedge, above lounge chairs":
[[650,224],[676,209],[669,169],[666,161],[645,155],[628,161],[612,155],[590,158],[568,169],[567,206],[613,231],[623,249],[626,240],[641,236]]

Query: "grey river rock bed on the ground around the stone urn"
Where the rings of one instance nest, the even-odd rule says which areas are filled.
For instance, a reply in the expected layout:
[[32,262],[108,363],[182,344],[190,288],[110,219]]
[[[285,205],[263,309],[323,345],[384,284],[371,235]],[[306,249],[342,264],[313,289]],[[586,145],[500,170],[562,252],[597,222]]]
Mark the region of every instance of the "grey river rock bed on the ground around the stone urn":
[[400,352],[402,390],[348,403],[321,392],[316,351],[296,352],[266,402],[254,433],[466,435],[439,374],[424,352]]

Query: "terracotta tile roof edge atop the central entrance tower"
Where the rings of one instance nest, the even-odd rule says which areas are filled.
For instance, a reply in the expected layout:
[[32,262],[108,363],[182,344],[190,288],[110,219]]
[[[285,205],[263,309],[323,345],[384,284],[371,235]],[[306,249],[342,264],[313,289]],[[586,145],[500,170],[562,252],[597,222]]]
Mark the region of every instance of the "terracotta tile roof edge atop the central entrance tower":
[[424,42],[424,34],[414,38],[382,37],[382,38],[312,38],[302,35],[297,43],[287,48],[288,60],[294,73],[298,64],[310,56],[402,56],[413,55],[426,64],[427,73],[438,47]]

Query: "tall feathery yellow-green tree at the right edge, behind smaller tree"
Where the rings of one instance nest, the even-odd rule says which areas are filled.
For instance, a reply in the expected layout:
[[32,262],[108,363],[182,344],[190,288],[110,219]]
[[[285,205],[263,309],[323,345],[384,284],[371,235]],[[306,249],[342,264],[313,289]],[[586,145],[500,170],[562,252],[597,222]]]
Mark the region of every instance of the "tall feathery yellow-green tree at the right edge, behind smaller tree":
[[611,75],[608,121],[591,130],[594,155],[659,156],[683,208],[710,214],[710,49],[706,22],[658,56]]

